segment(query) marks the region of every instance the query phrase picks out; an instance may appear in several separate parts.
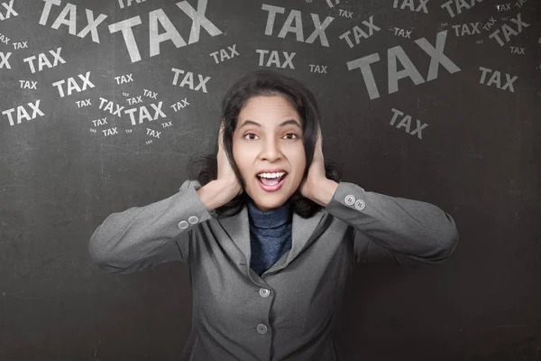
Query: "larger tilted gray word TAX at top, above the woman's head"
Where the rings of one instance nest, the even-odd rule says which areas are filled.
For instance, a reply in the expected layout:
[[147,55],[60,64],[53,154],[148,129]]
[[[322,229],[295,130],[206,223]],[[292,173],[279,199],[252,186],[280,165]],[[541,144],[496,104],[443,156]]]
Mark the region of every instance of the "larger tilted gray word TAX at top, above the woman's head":
[[[267,5],[263,4],[261,5],[261,10],[268,11],[269,14],[267,16],[267,25],[265,27],[265,35],[272,35],[272,30],[274,28],[274,21],[276,20],[276,14],[284,14],[285,8],[280,6],[274,6],[274,5]],[[327,26],[329,26],[330,23],[335,20],[334,17],[327,16],[325,21],[321,23],[319,21],[319,15],[318,14],[310,14],[312,18],[312,23],[314,23],[314,31],[307,37],[305,40],[304,37],[304,26],[302,23],[302,16],[300,11],[298,10],[291,10],[289,12],[288,18],[284,22],[283,26],[280,29],[280,32],[278,33],[279,38],[285,38],[286,35],[289,32],[295,33],[296,40],[298,42],[307,42],[309,44],[316,41],[316,39],[319,37],[319,41],[321,42],[321,45],[323,46],[329,46],[329,42],[326,38],[325,30]],[[295,23],[295,24],[293,24]]]

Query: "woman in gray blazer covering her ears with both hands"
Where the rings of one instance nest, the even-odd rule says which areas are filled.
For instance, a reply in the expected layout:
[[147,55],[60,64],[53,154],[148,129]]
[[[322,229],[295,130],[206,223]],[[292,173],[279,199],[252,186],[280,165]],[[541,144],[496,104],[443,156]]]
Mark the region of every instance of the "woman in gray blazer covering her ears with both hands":
[[355,263],[436,264],[454,252],[458,233],[442,209],[341,181],[324,161],[319,121],[297,80],[245,76],[225,95],[197,180],[113,213],[90,239],[108,272],[187,265],[193,318],[182,360],[344,359],[331,332]]

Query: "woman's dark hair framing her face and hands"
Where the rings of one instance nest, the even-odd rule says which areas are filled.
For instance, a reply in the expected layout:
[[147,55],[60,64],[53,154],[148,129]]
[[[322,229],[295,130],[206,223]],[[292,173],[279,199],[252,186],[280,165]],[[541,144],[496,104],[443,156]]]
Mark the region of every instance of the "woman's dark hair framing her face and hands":
[[[246,199],[249,197],[245,191],[243,177],[241,176],[233,157],[233,134],[238,121],[237,117],[245,103],[251,97],[276,95],[285,97],[289,100],[303,120],[303,144],[306,153],[307,166],[302,179],[305,180],[307,177],[308,168],[312,163],[314,150],[316,148],[317,126],[321,120],[316,97],[314,97],[312,92],[297,79],[289,78],[266,69],[253,71],[234,83],[222,100],[222,115],[220,116],[220,121],[221,118],[225,121],[223,137],[224,151],[227,154],[229,163],[244,191],[222,207],[216,208],[215,213],[218,216],[231,216],[238,213],[243,208]],[[217,133],[219,131],[220,123],[216,122],[216,125],[215,152],[199,156],[198,159],[194,159],[192,156],[188,162],[190,179],[197,179],[201,186],[204,186],[209,181],[217,178]],[[197,171],[197,166],[200,168],[199,171]],[[342,179],[341,171],[335,163],[329,162],[326,159],[325,172],[326,178],[329,180],[339,182]],[[295,193],[293,193],[290,200],[293,211],[298,213],[302,218],[309,218],[322,208],[322,206],[311,199],[303,197],[299,190],[296,190]]]

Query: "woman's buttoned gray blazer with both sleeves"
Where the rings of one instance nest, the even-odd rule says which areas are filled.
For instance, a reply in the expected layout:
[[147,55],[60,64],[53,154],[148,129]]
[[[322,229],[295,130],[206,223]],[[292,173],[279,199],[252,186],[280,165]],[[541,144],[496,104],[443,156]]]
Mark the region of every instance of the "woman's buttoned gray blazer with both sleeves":
[[246,206],[217,218],[199,187],[186,180],[170,198],[111,214],[88,245],[111,273],[186,264],[193,317],[181,360],[342,360],[331,331],[354,264],[441,263],[458,241],[442,209],[343,181],[315,216],[293,214],[292,248],[260,277],[250,268]]

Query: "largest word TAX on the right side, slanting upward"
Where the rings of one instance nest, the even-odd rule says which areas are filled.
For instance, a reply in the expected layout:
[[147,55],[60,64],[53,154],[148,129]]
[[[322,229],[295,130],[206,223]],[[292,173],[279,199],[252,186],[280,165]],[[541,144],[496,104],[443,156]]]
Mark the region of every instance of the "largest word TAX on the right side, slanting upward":
[[[454,64],[454,62],[447,58],[444,54],[446,36],[446,30],[437,33],[436,47],[427,42],[426,38],[420,38],[415,41],[417,45],[430,56],[430,64],[428,66],[426,79],[423,79],[413,62],[409,59],[408,55],[400,45],[387,50],[389,94],[399,91],[399,79],[409,78],[414,82],[415,85],[419,85],[425,81],[437,79],[437,71],[440,64],[451,74],[460,71],[460,68],[458,68],[456,64]],[[404,69],[397,69],[397,60],[399,60],[402,68]],[[347,69],[361,69],[362,79],[364,80],[364,85],[366,86],[368,95],[371,99],[380,97],[380,92],[378,91],[376,80],[374,79],[374,75],[371,70],[371,63],[378,61],[380,61],[380,54],[374,52],[371,55],[347,62]]]

